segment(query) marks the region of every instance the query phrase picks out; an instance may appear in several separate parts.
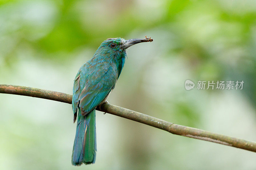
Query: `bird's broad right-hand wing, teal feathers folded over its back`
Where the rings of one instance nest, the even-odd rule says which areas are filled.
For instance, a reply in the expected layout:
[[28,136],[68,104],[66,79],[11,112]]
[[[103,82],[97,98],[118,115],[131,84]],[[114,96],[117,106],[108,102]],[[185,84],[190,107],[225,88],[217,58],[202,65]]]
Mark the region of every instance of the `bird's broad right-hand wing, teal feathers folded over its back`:
[[86,115],[97,107],[115,87],[118,77],[117,71],[105,65],[100,70],[86,71],[84,88],[79,95],[81,114]]

